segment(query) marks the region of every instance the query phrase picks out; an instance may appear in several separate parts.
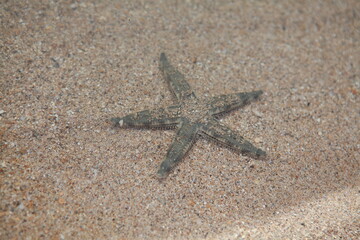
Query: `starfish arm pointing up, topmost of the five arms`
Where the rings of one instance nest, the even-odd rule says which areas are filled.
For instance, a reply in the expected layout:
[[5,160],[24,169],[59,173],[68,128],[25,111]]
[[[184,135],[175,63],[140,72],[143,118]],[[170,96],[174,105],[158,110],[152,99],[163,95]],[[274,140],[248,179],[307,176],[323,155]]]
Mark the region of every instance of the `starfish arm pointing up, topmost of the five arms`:
[[164,74],[165,80],[170,85],[170,89],[178,101],[195,97],[195,94],[191,90],[190,85],[186,82],[184,75],[170,64],[165,53],[161,53],[160,55],[159,68]]

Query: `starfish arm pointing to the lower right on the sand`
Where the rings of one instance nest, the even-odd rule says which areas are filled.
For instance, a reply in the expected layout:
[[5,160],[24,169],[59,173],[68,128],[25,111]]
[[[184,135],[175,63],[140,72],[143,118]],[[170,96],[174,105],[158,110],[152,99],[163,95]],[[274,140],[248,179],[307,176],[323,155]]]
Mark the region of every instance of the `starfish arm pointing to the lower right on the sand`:
[[250,142],[245,140],[242,136],[234,133],[233,130],[220,124],[215,119],[210,120],[207,124],[202,125],[199,134],[205,138],[214,140],[221,145],[229,147],[242,154],[249,155],[251,157],[265,156],[266,153],[254,147]]

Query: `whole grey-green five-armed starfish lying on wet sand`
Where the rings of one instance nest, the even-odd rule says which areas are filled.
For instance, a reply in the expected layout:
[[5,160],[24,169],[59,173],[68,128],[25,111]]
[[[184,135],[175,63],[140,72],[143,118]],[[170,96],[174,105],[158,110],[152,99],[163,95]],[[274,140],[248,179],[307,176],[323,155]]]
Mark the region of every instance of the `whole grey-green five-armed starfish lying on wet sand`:
[[175,139],[161,163],[157,175],[166,177],[185,154],[190,150],[197,137],[214,140],[221,145],[254,158],[266,153],[218,121],[218,117],[242,107],[262,94],[262,91],[240,92],[210,98],[198,98],[186,82],[184,75],[176,70],[164,53],[160,55],[160,71],[175,95],[176,104],[144,110],[111,121],[119,127],[134,128],[177,128]]

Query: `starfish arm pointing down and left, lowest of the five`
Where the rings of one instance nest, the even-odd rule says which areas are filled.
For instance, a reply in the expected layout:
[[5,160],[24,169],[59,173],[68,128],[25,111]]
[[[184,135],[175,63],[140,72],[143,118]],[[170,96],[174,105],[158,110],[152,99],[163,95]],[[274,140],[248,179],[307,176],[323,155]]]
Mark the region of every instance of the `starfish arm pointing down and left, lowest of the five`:
[[181,123],[175,139],[166,154],[166,158],[160,165],[158,171],[160,178],[166,177],[171,169],[175,167],[190,150],[196,140],[198,128],[199,126],[197,124],[190,123],[187,120]]

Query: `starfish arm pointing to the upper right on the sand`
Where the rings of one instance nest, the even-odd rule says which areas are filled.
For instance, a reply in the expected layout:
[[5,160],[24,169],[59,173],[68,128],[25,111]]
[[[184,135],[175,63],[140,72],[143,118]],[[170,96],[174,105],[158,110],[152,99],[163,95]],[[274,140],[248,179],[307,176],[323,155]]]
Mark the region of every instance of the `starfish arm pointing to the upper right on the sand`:
[[236,108],[242,107],[249,102],[256,100],[263,92],[242,92],[228,95],[220,95],[210,99],[209,108],[211,115],[219,115]]

